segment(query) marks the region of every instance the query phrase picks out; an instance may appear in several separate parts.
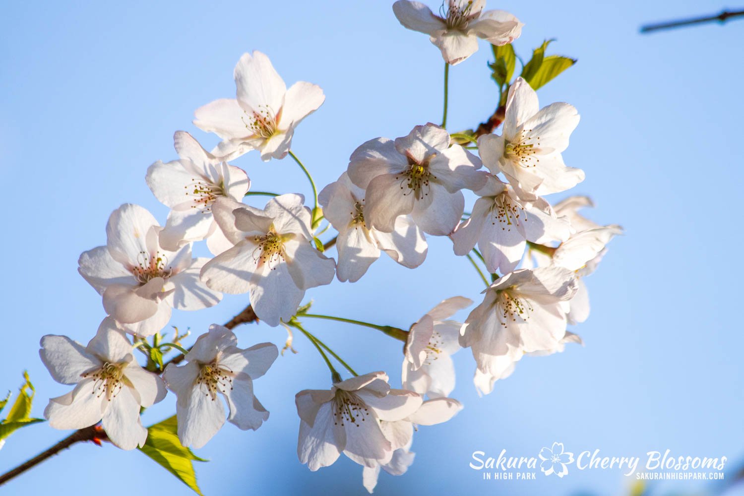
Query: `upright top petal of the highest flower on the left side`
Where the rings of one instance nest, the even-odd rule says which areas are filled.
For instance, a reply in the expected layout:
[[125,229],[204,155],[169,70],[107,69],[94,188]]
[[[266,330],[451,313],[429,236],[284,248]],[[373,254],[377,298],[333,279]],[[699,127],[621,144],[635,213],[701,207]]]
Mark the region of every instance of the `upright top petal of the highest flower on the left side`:
[[260,51],[243,54],[235,65],[237,100],[243,109],[276,114],[282,108],[286,86],[269,57]]

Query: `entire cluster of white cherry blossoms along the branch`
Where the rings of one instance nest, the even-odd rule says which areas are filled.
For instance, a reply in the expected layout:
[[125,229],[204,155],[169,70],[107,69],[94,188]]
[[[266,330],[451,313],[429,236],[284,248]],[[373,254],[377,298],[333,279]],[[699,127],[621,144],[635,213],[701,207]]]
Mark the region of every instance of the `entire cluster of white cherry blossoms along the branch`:
[[[415,1],[397,1],[393,9],[405,27],[429,34],[451,65],[474,53],[478,38],[504,45],[522,29],[509,13],[484,11],[483,0],[449,0],[440,16]],[[580,342],[567,325],[589,313],[583,277],[621,230],[581,216],[580,207],[591,204],[586,197],[553,206],[544,198],[583,181],[583,171],[566,167],[561,155],[579,115],[567,103],[540,109],[522,78],[510,86],[501,135],[482,135],[477,146],[466,147],[443,126],[414,126],[406,136],[373,138],[356,148],[347,170],[315,196],[312,208],[295,193],[272,195],[263,209],[248,206],[242,200],[251,181],[228,162],[252,150],[263,161],[287,155],[298,161],[291,151],[295,128],[324,94],[305,82],[287,89],[258,51],[240,58],[234,80],[236,99],[196,110],[194,123],[218,135],[219,145],[208,152],[187,132],[176,132],[179,158],[147,170],[148,186],[171,209],[165,225],[143,207],[124,204],[109,218],[106,245],[80,256],[80,274],[101,294],[107,317],[86,347],[64,336],[42,338],[42,360],[54,379],[74,385],[50,400],[45,416],[60,429],[102,422],[111,442],[132,449],[147,439],[141,408],[170,390],[185,446],[202,447],[222,428],[221,396],[227,420],[255,430],[269,412],[254,396],[253,381],[269,370],[277,347],[241,349],[231,329],[213,325],[179,357],[185,364],[148,362],[146,370],[135,350],[153,346],[147,338],[159,336],[172,309],[203,309],[219,303],[222,293],[247,293],[260,321],[295,326],[327,358],[299,323],[324,317],[298,312],[305,292],[334,277],[359,280],[382,251],[416,268],[426,258],[426,236],[449,236],[455,254],[477,254],[491,280],[464,322],[452,317],[472,300],[450,297],[410,330],[396,329],[394,337],[405,341],[401,388],[391,388],[384,372],[358,376],[342,361],[353,377],[341,380],[327,360],[330,390],[295,396],[301,463],[315,471],[343,453],[364,467],[371,492],[381,469],[400,475],[411,465],[417,426],[446,422],[461,410],[449,398],[451,355],[461,347],[475,358],[475,387],[490,393],[523,355]],[[470,213],[464,190],[477,196]],[[323,220],[328,225],[321,230]],[[338,232],[335,260],[318,239],[330,227]],[[214,257],[192,257],[200,241]]]

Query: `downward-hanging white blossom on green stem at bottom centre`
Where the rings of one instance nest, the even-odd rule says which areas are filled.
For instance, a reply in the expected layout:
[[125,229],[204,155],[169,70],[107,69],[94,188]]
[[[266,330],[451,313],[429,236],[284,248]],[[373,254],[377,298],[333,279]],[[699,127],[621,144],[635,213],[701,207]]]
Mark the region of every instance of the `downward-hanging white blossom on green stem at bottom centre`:
[[297,455],[312,471],[332,465],[343,453],[359,465],[391,462],[400,446],[385,437],[382,422],[403,420],[418,410],[417,393],[391,389],[388,376],[373,372],[333,384],[330,390],[303,390],[295,396],[300,416]]

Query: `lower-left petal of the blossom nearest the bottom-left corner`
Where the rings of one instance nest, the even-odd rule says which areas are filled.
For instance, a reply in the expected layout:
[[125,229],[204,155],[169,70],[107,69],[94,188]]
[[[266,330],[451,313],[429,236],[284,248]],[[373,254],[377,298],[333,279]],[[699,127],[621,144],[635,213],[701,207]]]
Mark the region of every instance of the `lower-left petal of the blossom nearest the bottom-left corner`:
[[55,429],[82,429],[94,425],[103,416],[105,395],[99,396],[94,380],[86,379],[70,393],[49,400],[44,417]]

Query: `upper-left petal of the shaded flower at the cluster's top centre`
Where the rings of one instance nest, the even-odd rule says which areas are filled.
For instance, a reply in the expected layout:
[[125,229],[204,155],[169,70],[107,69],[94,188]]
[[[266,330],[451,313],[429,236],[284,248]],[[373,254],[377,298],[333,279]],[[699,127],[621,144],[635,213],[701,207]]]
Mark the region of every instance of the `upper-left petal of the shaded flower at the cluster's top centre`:
[[367,189],[378,175],[397,174],[408,167],[408,159],[388,138],[374,138],[359,145],[349,158],[348,175],[357,187]]

